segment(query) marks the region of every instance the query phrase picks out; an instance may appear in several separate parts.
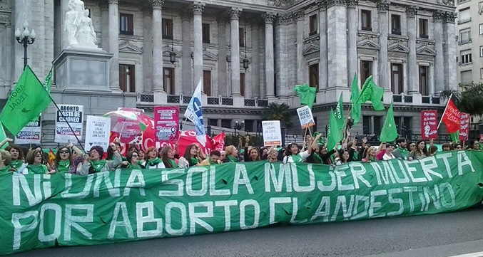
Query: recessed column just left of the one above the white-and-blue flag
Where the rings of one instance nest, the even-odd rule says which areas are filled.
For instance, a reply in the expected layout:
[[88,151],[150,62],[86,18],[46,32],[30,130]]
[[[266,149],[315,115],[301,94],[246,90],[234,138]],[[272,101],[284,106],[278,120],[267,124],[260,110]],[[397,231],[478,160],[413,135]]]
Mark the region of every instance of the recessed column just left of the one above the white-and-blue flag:
[[181,12],[181,30],[183,33],[183,50],[181,53],[181,70],[183,72],[183,95],[191,95],[193,93],[193,67],[191,66],[191,16],[191,11],[185,10]]

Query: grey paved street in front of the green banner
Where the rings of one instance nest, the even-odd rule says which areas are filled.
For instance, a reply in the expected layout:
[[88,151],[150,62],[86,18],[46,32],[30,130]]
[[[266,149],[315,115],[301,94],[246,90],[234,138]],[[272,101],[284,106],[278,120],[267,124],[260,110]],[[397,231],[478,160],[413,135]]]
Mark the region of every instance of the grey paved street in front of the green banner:
[[36,257],[108,256],[456,256],[483,251],[483,209],[203,236],[49,248]]

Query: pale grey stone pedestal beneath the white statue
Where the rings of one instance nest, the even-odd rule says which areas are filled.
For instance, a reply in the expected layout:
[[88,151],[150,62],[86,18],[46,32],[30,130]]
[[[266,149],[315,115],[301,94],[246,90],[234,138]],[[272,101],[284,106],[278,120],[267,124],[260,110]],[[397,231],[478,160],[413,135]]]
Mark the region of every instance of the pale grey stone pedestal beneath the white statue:
[[54,60],[58,90],[106,91],[112,53],[101,48],[70,47]]

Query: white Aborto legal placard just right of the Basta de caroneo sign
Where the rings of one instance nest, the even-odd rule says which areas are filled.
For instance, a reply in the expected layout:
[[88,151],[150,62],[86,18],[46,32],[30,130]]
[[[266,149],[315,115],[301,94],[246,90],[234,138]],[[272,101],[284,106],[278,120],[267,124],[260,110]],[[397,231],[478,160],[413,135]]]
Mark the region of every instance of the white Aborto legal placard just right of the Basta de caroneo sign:
[[109,146],[111,135],[111,118],[101,116],[86,116],[86,151],[91,150],[94,145],[100,145],[104,151]]

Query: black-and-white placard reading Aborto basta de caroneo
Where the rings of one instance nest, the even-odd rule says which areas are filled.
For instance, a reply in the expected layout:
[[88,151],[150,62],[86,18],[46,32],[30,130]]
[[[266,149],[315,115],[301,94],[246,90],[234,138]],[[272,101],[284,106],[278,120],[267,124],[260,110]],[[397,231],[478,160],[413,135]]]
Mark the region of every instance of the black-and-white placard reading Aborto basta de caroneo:
[[[59,105],[59,109],[63,114],[63,119],[61,112],[57,110],[56,115],[56,134],[55,140],[56,143],[67,143],[69,140],[76,144],[76,136],[78,140],[82,140],[82,130],[83,130],[83,112],[84,106],[83,105]],[[72,130],[68,127],[67,122],[71,125]],[[74,135],[74,132],[76,133]]]

